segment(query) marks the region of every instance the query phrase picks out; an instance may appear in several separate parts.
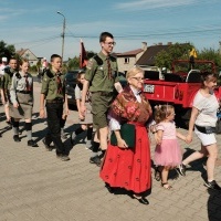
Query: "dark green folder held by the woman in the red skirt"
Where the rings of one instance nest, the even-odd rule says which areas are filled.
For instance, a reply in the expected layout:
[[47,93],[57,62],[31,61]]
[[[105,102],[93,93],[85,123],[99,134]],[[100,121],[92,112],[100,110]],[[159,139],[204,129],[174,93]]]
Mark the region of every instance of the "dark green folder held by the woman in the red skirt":
[[[130,148],[135,147],[135,141],[136,141],[135,125],[123,124],[119,133],[120,133],[122,139],[126,141],[128,147]],[[117,138],[114,131],[112,131],[112,135],[110,135],[110,145],[117,146]]]

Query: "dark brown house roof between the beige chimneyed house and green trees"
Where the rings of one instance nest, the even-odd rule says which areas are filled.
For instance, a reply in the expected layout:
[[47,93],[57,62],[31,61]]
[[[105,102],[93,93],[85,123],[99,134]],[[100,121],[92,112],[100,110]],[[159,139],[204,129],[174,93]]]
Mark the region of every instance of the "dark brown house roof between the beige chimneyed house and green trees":
[[167,45],[152,45],[148,46],[144,54],[139,57],[136,64],[138,65],[155,65],[155,56],[160,51],[168,51],[169,44]]

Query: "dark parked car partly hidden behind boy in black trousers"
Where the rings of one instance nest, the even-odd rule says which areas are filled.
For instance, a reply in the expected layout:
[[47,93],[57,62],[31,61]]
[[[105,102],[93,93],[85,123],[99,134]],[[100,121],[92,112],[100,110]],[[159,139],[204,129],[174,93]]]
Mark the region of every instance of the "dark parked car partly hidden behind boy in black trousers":
[[75,86],[77,83],[77,74],[83,71],[83,70],[74,70],[74,71],[69,71],[65,74],[65,80],[66,80],[66,91],[67,91],[67,103],[71,105],[76,105],[75,101]]

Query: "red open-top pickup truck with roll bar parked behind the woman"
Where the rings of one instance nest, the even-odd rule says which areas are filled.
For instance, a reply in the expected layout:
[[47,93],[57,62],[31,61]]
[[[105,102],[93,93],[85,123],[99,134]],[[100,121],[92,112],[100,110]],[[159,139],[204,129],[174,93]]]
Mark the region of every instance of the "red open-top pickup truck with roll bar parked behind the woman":
[[[201,86],[200,72],[215,72],[215,64],[212,61],[197,60],[193,66],[190,66],[188,60],[176,60],[172,63],[172,71],[165,73],[162,77],[159,72],[145,71],[144,93],[150,104],[172,104],[177,122],[182,120],[185,125],[189,122],[193,97]],[[215,90],[215,94],[221,97],[220,87]]]

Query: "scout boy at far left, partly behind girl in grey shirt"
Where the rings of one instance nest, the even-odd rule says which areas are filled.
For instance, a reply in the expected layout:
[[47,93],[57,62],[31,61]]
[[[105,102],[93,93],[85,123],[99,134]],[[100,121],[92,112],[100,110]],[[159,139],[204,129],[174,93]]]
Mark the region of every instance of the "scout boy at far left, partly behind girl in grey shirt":
[[10,87],[11,87],[11,81],[12,81],[12,76],[14,73],[17,73],[17,67],[18,67],[18,63],[17,63],[17,59],[15,57],[11,57],[9,60],[9,66],[7,66],[4,69],[4,75],[3,75],[3,96],[4,96],[4,112],[6,112],[6,117],[7,117],[7,124],[11,125],[11,117],[9,115],[9,106],[11,105],[11,101],[10,101]]

